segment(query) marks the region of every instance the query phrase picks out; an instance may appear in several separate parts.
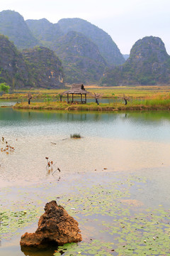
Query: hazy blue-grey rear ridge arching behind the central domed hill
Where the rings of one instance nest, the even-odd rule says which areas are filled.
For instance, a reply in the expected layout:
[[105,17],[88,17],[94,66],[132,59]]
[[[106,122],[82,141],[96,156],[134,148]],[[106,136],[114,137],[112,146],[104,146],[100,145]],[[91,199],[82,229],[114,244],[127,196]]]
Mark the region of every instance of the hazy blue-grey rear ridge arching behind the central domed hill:
[[[98,46],[98,50],[108,65],[119,65],[125,62],[118,46],[105,31],[81,18],[63,18],[58,23],[50,23],[47,19],[27,20],[30,31],[44,46],[55,46],[55,41],[69,31],[82,33],[88,40]],[[43,42],[42,42],[43,41]],[[51,42],[51,43],[50,43]]]

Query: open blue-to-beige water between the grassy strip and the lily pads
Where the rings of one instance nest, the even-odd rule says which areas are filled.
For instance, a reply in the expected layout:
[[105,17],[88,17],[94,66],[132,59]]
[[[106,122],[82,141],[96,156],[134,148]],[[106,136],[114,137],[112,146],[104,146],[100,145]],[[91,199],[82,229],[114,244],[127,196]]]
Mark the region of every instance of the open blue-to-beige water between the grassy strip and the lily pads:
[[[135,171],[169,166],[169,130],[166,112],[28,112],[2,108],[0,134],[16,151],[1,154],[0,177],[8,181],[18,176],[28,181],[49,178],[46,156],[60,166],[62,174],[105,167]],[[69,139],[74,133],[84,138]]]

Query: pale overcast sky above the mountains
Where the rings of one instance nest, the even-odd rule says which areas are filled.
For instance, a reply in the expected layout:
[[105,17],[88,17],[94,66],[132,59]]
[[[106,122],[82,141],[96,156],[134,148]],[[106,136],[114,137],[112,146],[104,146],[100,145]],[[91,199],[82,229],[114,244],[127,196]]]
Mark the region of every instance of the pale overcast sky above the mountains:
[[138,39],[159,36],[170,54],[170,0],[1,0],[3,10],[52,23],[83,18],[106,31],[123,54]]

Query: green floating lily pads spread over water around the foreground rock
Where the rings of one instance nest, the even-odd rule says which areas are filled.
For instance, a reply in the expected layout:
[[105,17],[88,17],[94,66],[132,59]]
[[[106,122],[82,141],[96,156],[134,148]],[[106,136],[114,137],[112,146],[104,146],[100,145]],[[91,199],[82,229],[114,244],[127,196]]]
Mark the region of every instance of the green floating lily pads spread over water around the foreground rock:
[[[39,186],[39,190],[35,190],[37,200],[34,206],[23,206],[19,211],[18,205],[16,210],[1,210],[1,238],[9,238],[20,228],[38,221],[43,202],[57,199],[79,221],[85,239],[78,244],[56,247],[55,256],[63,253],[64,256],[169,255],[170,211],[164,206],[148,208],[145,202],[133,198],[136,191],[145,188],[146,178],[120,176],[119,180],[116,175],[114,178],[111,176],[111,182],[95,185],[90,180],[87,183],[86,179],[82,179],[76,186],[74,184],[69,195],[57,192],[56,183]],[[23,194],[24,198],[26,195]]]

